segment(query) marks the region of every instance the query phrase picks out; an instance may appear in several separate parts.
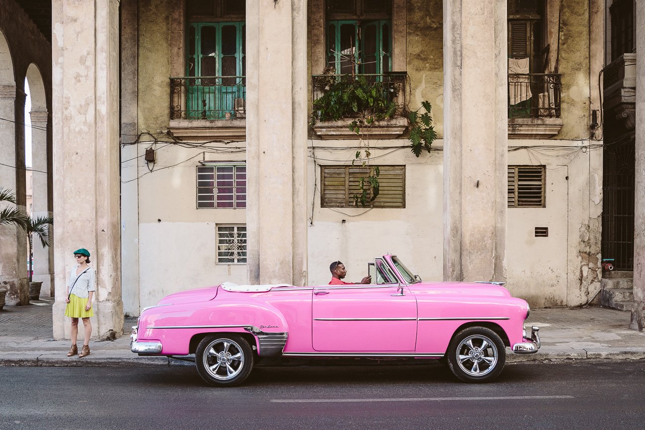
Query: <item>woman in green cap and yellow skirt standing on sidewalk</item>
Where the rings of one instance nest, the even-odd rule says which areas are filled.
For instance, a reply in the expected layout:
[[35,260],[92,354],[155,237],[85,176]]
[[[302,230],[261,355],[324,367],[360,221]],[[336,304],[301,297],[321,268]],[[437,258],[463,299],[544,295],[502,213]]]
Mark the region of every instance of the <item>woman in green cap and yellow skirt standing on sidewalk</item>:
[[83,318],[85,338],[83,349],[79,354],[79,357],[83,358],[90,355],[89,343],[92,336],[90,317],[94,317],[92,297],[96,291],[96,271],[87,265],[90,262],[90,252],[87,249],[81,248],[74,251],[74,258],[79,265],[70,273],[70,280],[67,282],[67,298],[65,299],[67,303],[65,317],[72,318],[72,348],[67,353],[67,357],[72,357],[79,352],[76,338],[79,333],[79,318]]

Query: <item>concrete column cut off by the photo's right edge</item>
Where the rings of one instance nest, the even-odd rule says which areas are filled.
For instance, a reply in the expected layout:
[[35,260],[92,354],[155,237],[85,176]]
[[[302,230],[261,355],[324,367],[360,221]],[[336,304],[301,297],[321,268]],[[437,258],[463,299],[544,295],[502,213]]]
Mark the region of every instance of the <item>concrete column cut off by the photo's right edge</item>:
[[634,306],[630,327],[645,327],[645,4],[636,6],[636,181],[634,190]]

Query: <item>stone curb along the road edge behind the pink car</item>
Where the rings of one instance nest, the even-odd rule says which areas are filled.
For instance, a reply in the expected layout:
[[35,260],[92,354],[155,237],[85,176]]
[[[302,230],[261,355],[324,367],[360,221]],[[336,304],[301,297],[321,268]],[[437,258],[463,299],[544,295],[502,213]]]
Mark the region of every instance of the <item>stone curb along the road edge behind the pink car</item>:
[[[127,353],[125,353],[127,354]],[[61,357],[61,353],[52,351],[34,351],[27,353],[0,352],[0,367],[159,367],[159,366],[194,366],[192,362],[169,357],[138,357],[128,355],[110,355],[97,351],[88,357]],[[606,349],[569,349],[567,351],[545,351],[535,354],[507,354],[507,364],[528,362],[557,363],[573,360],[607,360],[634,361],[645,359],[645,348],[606,348]],[[401,364],[405,366],[435,364],[437,360],[378,360],[378,359],[310,359],[310,358],[275,358],[264,359],[260,367],[272,366],[365,366],[379,364]]]

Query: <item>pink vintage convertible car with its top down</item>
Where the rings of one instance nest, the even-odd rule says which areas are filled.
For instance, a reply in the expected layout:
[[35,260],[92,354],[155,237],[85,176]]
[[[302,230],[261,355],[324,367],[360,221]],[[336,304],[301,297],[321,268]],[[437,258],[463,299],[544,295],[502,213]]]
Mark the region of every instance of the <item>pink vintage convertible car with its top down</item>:
[[263,357],[439,358],[457,378],[488,382],[506,347],[535,353],[529,306],[495,282],[422,282],[394,255],[368,264],[372,285],[219,286],[171,294],[143,309],[130,348],[195,354],[199,375],[235,386]]

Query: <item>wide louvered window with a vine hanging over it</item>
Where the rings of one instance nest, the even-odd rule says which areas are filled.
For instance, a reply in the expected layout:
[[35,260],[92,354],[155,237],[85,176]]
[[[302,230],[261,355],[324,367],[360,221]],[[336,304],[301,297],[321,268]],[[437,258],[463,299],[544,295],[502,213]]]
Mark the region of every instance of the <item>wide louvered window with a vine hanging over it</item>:
[[[359,182],[376,166],[321,166],[321,208],[361,208],[354,195],[361,194]],[[378,166],[379,194],[365,207],[405,208],[405,166]],[[368,200],[372,190],[368,190]]]

